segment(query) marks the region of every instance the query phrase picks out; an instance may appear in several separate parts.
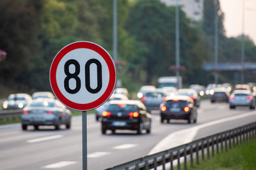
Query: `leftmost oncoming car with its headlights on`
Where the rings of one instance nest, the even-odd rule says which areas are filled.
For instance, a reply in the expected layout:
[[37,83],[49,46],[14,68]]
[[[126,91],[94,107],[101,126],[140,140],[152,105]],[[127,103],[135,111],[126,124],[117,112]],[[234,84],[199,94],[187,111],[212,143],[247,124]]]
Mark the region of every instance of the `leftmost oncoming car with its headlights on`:
[[26,106],[26,104],[31,101],[32,98],[29,94],[18,93],[18,94],[10,94],[8,99],[3,102],[3,109],[22,109]]

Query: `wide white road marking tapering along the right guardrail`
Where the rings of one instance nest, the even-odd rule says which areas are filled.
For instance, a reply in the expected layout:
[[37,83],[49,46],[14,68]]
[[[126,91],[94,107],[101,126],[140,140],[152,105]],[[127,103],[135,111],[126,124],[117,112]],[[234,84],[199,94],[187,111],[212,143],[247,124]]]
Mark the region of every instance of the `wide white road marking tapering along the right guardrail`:
[[[190,143],[195,138],[197,132],[204,127],[221,124],[223,122],[228,122],[231,120],[239,120],[241,118],[250,117],[252,115],[256,116],[256,112],[253,111],[250,113],[244,113],[243,115],[237,115],[234,117],[223,118],[223,119],[215,120],[215,121],[212,121],[212,122],[209,122],[206,124],[198,125],[198,126],[191,127],[188,129],[177,131],[177,132],[173,132],[172,134],[169,134],[168,136],[166,136],[166,138],[162,139],[159,143],[157,143],[157,145],[148,153],[148,155],[151,155],[151,154],[157,153],[157,152],[161,152],[163,150],[168,150],[170,148],[174,148],[179,145],[184,145],[186,143]],[[256,120],[256,117],[252,121],[255,121],[255,120]]]

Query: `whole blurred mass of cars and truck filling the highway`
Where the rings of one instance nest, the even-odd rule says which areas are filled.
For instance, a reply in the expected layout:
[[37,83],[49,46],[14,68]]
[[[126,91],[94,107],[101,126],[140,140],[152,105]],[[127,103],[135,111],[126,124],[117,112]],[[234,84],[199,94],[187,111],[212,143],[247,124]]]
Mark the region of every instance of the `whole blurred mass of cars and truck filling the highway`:
[[[158,79],[157,86],[143,85],[137,94],[130,94],[125,87],[114,90],[106,103],[95,108],[95,120],[101,122],[100,131],[106,134],[109,130],[129,129],[137,134],[145,130],[150,133],[152,122],[150,115],[158,115],[161,123],[165,120],[186,120],[189,124],[196,123],[198,119],[197,110],[201,101],[208,99],[218,107],[218,103],[227,103],[230,109],[247,107],[255,109],[256,84],[230,83],[199,85],[192,84],[182,86],[182,78],[165,76]],[[23,110],[21,115],[22,130],[29,125],[38,130],[42,125],[53,125],[60,129],[65,125],[70,129],[72,113],[52,92],[34,92],[29,94],[10,94],[3,101],[3,110]]]

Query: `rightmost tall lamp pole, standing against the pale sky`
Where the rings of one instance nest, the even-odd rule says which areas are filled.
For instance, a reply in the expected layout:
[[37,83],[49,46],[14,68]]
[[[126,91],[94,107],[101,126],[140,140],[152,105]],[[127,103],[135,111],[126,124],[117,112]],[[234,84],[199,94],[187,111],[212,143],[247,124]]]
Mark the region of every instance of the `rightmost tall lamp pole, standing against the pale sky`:
[[242,65],[242,72],[241,72],[241,83],[244,83],[244,0],[243,0],[243,10],[242,10],[242,49],[241,49],[241,65]]

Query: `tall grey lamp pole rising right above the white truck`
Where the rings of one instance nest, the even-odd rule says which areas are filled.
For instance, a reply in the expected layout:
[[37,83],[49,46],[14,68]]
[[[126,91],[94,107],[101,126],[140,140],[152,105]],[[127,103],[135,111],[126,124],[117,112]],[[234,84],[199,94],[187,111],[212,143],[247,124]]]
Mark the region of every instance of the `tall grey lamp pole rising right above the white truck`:
[[179,37],[179,0],[176,0],[175,5],[175,60],[176,60],[176,78],[179,89],[180,76],[180,37]]

